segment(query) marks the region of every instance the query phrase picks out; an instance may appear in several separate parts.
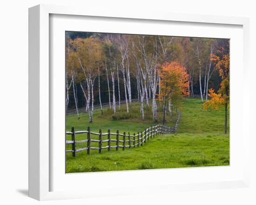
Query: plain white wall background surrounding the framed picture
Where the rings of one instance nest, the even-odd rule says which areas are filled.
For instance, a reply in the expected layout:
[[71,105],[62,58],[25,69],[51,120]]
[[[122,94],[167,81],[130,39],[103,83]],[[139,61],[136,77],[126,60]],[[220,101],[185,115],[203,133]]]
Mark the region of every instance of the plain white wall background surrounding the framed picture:
[[[251,96],[256,76],[254,57],[256,6],[253,0],[5,0],[0,4],[0,204],[39,204],[27,197],[28,170],[28,7],[37,4],[134,8],[173,13],[250,17]],[[254,97],[255,100],[255,97]],[[251,99],[253,102],[253,99]],[[255,108],[251,103],[251,127]],[[253,123],[254,121],[254,123]],[[11,133],[9,133],[11,131]],[[256,137],[253,133],[252,136]],[[43,204],[256,204],[256,140],[251,141],[251,188],[175,192],[151,196],[47,201]],[[11,151],[8,151],[11,150]]]

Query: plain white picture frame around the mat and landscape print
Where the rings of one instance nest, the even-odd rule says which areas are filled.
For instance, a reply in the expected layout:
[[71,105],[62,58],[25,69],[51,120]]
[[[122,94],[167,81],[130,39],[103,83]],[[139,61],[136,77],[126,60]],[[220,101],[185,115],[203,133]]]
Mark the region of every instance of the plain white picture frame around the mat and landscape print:
[[[50,15],[74,15],[74,16],[90,16],[102,18],[125,18],[125,19],[144,19],[157,20],[158,22],[172,21],[172,22],[187,22],[203,24],[218,24],[218,25],[237,25],[242,26],[243,29],[243,82],[244,87],[247,87],[246,79],[249,76],[249,19],[241,17],[222,17],[209,15],[194,15],[194,14],[175,14],[175,13],[161,13],[161,12],[118,12],[118,11],[103,11],[92,8],[84,9],[70,6],[52,6],[52,5],[38,5],[29,9],[29,197],[38,200],[51,199],[73,199],[73,198],[87,198],[101,196],[117,196],[124,194],[136,194],[136,189],[120,189],[119,185],[111,185],[109,190],[111,194],[103,191],[95,192],[91,189],[90,192],[86,189],[70,189],[53,191],[51,189],[52,182],[52,160],[50,152],[52,149],[50,133],[51,133],[51,72],[50,72]],[[73,16],[73,17],[74,17]],[[249,87],[249,86],[248,86]],[[249,102],[249,89],[243,89],[243,147],[240,152],[244,155],[249,155],[249,106],[245,106]],[[242,103],[242,102],[241,102]],[[231,113],[232,116],[232,113]],[[245,122],[244,119],[247,119]],[[246,158],[245,158],[246,159]],[[249,160],[249,157],[247,158]],[[172,192],[179,189],[195,190],[195,189],[217,189],[228,187],[248,187],[249,186],[249,161],[244,161],[243,164],[243,179],[234,180],[216,180],[215,182],[208,182],[207,178],[195,183],[190,182],[176,182],[175,184],[167,183],[161,184],[153,183],[152,185],[145,185],[145,189],[141,193],[150,193],[150,188],[156,189],[157,192]],[[204,171],[204,168],[196,168],[195,172]],[[182,169],[176,169],[176,172],[181,172]],[[140,174],[137,171],[136,174]],[[169,172],[169,169],[154,170],[154,173]],[[153,173],[151,171],[151,173]],[[217,172],[220,174],[222,170]],[[135,172],[133,172],[135,173]],[[91,173],[95,174],[97,173]],[[103,175],[109,173],[103,173]],[[111,175],[119,175],[124,177],[128,172],[111,172]],[[131,172],[129,172],[131,174]],[[102,174],[101,174],[102,175]],[[103,177],[102,175],[102,177]],[[100,176],[100,175],[98,175]],[[81,177],[81,175],[77,175]],[[100,180],[100,179],[99,179]]]

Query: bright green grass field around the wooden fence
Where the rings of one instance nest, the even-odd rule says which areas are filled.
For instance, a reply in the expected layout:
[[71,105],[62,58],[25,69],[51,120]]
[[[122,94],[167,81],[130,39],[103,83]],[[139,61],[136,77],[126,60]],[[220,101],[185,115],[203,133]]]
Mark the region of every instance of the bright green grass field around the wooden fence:
[[[104,133],[110,128],[114,133],[118,129],[121,133],[125,131],[133,135],[148,126],[162,124],[161,114],[159,114],[159,122],[155,123],[152,123],[150,119],[142,121],[139,117],[133,116],[136,112],[140,115],[136,106],[132,106],[131,118],[124,120],[113,120],[108,109],[104,109],[103,116],[100,110],[95,110],[92,123],[88,123],[87,114],[81,115],[79,120],[76,116],[68,116],[66,130],[70,131],[72,126],[75,130],[87,130],[90,126],[94,132],[99,132],[101,128]],[[175,120],[174,111],[172,116],[168,116],[166,125],[173,126]],[[66,173],[226,166],[229,165],[229,134],[223,133],[224,109],[204,111],[199,98],[187,97],[182,100],[181,118],[176,134],[157,135],[147,141],[143,147],[126,148],[125,151],[111,149],[108,152],[104,149],[99,154],[98,150],[91,150],[90,155],[83,151],[77,153],[75,158],[71,153],[67,153]],[[96,135],[92,136],[98,139]],[[84,139],[86,139],[86,134],[76,135],[76,140]],[[71,140],[69,135],[67,140]],[[94,143],[97,146],[97,143]],[[103,143],[102,146],[106,144]],[[86,144],[77,144],[77,148],[80,147],[86,147]],[[71,149],[71,145],[67,145],[66,148]]]

